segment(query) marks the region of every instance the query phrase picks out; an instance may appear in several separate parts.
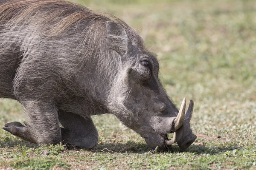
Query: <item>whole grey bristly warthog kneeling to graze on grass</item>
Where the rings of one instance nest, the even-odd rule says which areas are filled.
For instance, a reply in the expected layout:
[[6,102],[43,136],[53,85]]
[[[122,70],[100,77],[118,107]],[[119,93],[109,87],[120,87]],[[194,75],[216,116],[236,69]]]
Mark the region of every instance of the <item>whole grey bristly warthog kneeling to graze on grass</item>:
[[19,101],[28,119],[4,130],[36,144],[92,148],[91,116],[112,113],[151,148],[173,144],[174,132],[183,150],[195,141],[193,101],[186,115],[185,99],[177,110],[155,55],[122,20],[63,0],[0,4],[0,97]]

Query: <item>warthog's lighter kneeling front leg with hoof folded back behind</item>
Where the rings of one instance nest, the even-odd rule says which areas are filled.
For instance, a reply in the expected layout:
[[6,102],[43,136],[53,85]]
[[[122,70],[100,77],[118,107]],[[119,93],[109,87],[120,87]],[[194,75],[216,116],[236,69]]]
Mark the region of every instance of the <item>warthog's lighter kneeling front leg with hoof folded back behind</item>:
[[21,101],[28,122],[7,123],[3,129],[26,141],[36,144],[56,144],[61,142],[61,128],[58,110],[54,105],[38,100]]

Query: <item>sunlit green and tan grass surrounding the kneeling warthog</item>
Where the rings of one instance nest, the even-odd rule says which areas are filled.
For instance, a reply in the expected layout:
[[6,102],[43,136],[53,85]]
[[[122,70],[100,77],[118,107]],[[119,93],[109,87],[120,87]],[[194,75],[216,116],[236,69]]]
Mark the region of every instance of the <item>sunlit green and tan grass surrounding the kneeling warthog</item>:
[[[77,0],[76,2],[81,3]],[[85,0],[122,17],[158,55],[160,79],[179,106],[195,102],[198,136],[156,152],[112,115],[94,116],[99,144],[83,150],[37,146],[0,130],[0,168],[256,170],[256,3],[253,0]],[[0,126],[25,120],[20,105],[0,99]],[[40,154],[43,150],[48,155]]]

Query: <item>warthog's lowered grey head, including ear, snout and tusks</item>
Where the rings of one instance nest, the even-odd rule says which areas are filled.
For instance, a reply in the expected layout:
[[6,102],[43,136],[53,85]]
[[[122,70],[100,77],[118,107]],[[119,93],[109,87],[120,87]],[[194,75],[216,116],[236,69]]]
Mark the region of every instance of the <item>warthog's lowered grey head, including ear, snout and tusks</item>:
[[[151,148],[167,146],[177,141],[185,150],[196,136],[189,121],[193,101],[185,115],[186,99],[178,110],[163,89],[159,79],[159,63],[145,49],[141,38],[131,34],[131,28],[112,21],[106,22],[109,48],[121,57],[122,66],[111,90],[113,114],[127,127],[135,130]],[[171,140],[168,133],[176,132]]]

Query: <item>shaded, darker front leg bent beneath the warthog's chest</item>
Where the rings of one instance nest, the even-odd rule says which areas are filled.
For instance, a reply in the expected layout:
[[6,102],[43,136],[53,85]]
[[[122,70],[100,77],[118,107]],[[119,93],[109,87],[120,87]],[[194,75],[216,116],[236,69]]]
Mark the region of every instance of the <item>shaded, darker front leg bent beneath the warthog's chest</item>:
[[90,149],[98,144],[98,131],[93,120],[74,113],[59,111],[62,140],[65,143]]

